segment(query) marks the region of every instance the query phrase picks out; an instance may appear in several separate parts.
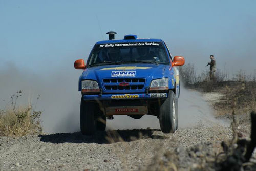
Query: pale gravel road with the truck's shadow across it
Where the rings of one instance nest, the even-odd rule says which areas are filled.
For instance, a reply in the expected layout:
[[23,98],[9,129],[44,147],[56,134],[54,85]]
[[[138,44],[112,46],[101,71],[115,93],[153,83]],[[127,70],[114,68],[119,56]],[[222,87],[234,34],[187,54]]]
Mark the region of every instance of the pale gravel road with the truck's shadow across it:
[[[95,136],[76,132],[0,137],[0,170],[148,170],[166,151],[182,151],[197,144],[213,148],[231,136],[229,127],[205,119],[194,126],[183,125],[174,134],[137,129]],[[184,159],[179,170],[193,166],[192,162]]]

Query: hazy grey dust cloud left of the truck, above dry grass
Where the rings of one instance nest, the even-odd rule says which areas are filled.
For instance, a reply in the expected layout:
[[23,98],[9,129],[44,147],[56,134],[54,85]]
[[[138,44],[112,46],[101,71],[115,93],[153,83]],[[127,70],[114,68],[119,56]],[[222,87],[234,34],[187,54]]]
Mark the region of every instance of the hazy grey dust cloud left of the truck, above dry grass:
[[0,69],[0,109],[7,105],[12,94],[22,90],[18,104],[31,103],[36,110],[43,111],[41,119],[45,133],[79,131],[79,74],[72,65],[65,70],[57,68],[54,72],[38,75],[9,63]]

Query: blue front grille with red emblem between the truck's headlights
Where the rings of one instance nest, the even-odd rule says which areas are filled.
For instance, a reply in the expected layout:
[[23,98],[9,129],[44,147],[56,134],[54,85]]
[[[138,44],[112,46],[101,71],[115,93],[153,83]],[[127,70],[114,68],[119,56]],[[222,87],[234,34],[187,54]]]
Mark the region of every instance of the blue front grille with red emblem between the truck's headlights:
[[103,86],[105,90],[141,90],[145,82],[145,78],[110,78],[103,79]]

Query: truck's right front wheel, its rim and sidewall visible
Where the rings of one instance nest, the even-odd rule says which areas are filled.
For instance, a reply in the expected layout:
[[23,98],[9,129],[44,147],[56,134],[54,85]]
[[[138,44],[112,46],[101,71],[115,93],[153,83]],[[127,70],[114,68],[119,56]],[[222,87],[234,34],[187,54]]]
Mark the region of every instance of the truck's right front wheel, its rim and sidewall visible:
[[163,133],[174,133],[178,128],[178,100],[173,91],[159,108],[159,123]]

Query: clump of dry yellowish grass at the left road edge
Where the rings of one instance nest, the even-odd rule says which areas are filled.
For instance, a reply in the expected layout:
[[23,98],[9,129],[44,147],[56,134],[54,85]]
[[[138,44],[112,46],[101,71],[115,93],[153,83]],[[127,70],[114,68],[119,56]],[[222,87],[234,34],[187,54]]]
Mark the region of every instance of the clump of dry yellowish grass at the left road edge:
[[[35,111],[31,104],[19,106],[22,91],[11,96],[5,110],[0,110],[0,136],[24,136],[41,132],[41,111]],[[37,100],[39,99],[39,96]]]

